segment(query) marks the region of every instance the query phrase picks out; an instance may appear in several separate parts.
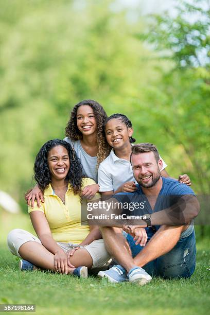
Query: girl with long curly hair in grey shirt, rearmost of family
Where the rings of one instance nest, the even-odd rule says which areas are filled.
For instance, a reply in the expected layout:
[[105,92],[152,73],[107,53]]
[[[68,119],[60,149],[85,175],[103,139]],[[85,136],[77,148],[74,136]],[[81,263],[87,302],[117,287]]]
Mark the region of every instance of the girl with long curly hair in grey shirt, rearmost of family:
[[[67,122],[66,137],[64,141],[71,144],[81,161],[86,177],[92,178],[96,183],[86,186],[82,191],[82,197],[93,198],[99,186],[97,184],[97,172],[99,164],[109,154],[109,145],[103,131],[107,114],[102,106],[91,99],[83,100],[76,104],[71,112],[71,118]],[[44,202],[41,189],[36,185],[26,196],[28,205],[33,206],[37,199]]]

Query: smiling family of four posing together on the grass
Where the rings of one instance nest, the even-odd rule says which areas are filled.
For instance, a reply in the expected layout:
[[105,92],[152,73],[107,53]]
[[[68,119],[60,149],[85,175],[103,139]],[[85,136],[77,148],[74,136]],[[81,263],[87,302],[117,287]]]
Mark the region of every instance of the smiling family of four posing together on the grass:
[[[110,282],[140,285],[152,276],[193,274],[196,241],[191,222],[199,204],[190,179],[187,174],[169,178],[156,147],[132,145],[132,133],[125,115],[108,118],[93,100],[76,104],[64,141],[46,142],[34,163],[37,185],[26,200],[38,237],[21,229],[8,235],[9,250],[21,258],[20,270],[42,268],[87,277],[88,270],[97,268],[98,276]],[[81,202],[98,199],[99,191],[114,194],[116,200],[121,194],[147,199],[146,219],[140,225],[100,227],[81,221]],[[170,215],[167,198],[160,198],[168,195],[181,196],[181,221]]]

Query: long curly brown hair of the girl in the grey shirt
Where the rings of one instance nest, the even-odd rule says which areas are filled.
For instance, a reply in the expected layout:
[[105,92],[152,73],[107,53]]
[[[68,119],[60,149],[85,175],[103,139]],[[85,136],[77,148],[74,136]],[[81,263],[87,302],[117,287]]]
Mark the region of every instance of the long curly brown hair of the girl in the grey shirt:
[[73,141],[82,139],[82,133],[81,131],[79,131],[77,127],[77,109],[82,105],[90,106],[93,109],[93,112],[95,115],[96,124],[97,124],[96,134],[97,134],[97,143],[98,143],[98,153],[97,153],[97,167],[98,167],[99,164],[105,158],[107,158],[110,152],[110,147],[107,143],[106,136],[103,131],[103,124],[104,124],[104,121],[107,119],[107,114],[98,102],[92,99],[85,99],[79,102],[78,104],[76,104],[71,112],[71,117],[69,121],[67,122],[67,126],[65,128],[65,135]]

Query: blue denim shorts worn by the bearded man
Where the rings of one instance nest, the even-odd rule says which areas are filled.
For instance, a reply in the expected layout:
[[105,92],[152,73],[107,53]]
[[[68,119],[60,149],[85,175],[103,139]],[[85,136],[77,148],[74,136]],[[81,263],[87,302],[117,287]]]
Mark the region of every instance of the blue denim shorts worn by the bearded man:
[[[146,231],[149,241],[154,235],[154,232],[151,228],[147,228]],[[130,234],[126,236],[126,239],[131,248],[133,257],[143,250],[144,247],[139,244],[135,245],[135,241]],[[188,278],[194,273],[195,267],[196,237],[195,231],[193,230],[190,235],[181,238],[170,252],[150,261],[143,268],[151,276],[161,276],[165,279],[171,279],[181,277]]]

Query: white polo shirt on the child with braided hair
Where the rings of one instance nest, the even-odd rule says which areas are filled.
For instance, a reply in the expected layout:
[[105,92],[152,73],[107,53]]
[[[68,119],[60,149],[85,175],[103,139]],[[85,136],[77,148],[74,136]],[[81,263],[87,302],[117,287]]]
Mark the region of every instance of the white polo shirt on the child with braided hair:
[[[160,159],[163,162],[163,170],[167,164],[161,156]],[[114,149],[112,149],[110,155],[100,163],[98,168],[99,191],[115,191],[126,182],[136,183],[131,163],[127,160],[119,159],[115,155]]]

